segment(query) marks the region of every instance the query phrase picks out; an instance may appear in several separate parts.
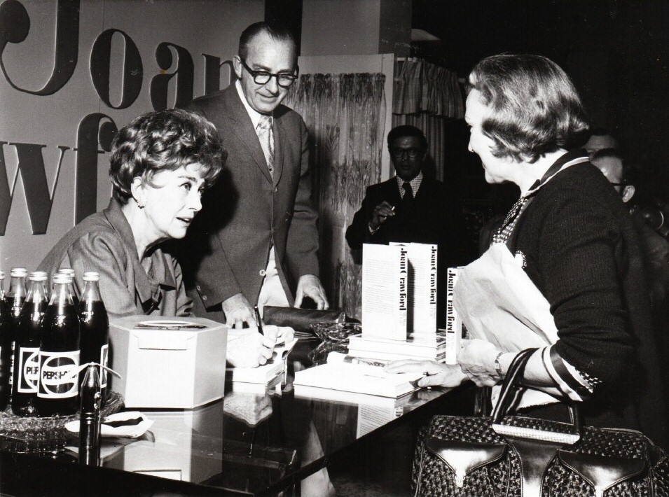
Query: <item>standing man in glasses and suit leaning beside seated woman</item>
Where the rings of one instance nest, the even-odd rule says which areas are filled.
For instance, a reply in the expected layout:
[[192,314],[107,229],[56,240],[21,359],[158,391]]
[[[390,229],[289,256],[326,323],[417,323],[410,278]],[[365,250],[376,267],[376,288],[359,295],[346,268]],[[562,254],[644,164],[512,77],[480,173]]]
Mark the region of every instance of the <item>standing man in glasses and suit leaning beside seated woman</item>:
[[253,306],[328,301],[319,280],[317,213],[311,200],[307,129],[281,105],[297,78],[286,28],[256,22],[240,36],[238,80],[187,108],[209,119],[228,152],[226,169],[188,230],[184,270],[195,314],[240,328]]

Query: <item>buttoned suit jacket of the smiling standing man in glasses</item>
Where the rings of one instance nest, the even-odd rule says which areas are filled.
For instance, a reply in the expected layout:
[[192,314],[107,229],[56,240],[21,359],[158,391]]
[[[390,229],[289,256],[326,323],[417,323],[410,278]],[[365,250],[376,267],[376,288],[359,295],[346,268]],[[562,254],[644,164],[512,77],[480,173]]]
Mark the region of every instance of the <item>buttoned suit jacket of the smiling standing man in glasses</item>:
[[286,106],[275,109],[272,178],[234,84],[193,100],[186,109],[216,126],[228,153],[223,173],[205,193],[202,212],[188,229],[181,257],[194,313],[219,313],[221,302],[240,292],[256,304],[271,246],[292,302],[296,280],[319,274],[317,213],[303,119]]

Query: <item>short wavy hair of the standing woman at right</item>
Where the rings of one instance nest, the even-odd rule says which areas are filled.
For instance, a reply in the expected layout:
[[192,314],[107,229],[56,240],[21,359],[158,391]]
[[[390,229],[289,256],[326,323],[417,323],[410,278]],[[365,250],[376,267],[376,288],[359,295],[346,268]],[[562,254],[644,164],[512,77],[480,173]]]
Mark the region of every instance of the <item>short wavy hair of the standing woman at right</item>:
[[584,141],[588,117],[569,76],[541,55],[493,55],[469,74],[469,88],[491,109],[482,131],[497,158],[536,161]]

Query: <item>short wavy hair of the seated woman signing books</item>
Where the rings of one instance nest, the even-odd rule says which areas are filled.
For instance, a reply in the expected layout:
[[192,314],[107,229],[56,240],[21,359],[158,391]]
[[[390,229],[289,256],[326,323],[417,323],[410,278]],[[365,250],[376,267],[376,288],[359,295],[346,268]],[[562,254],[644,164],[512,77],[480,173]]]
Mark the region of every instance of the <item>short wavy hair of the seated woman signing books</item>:
[[153,175],[163,169],[196,162],[202,166],[208,188],[221,174],[226,158],[216,127],[202,116],[181,109],[142,114],[120,130],[111,144],[112,195],[127,204],[138,176],[151,184]]

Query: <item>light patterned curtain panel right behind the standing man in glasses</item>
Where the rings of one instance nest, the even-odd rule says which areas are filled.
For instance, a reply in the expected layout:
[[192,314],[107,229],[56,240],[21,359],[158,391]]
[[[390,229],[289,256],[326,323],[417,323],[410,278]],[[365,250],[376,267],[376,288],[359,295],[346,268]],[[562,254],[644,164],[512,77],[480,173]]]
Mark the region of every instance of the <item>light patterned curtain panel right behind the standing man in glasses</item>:
[[357,318],[361,269],[351,258],[345,232],[365,188],[380,181],[384,83],[382,73],[303,74],[286,99],[310,134],[321,280],[331,306]]

